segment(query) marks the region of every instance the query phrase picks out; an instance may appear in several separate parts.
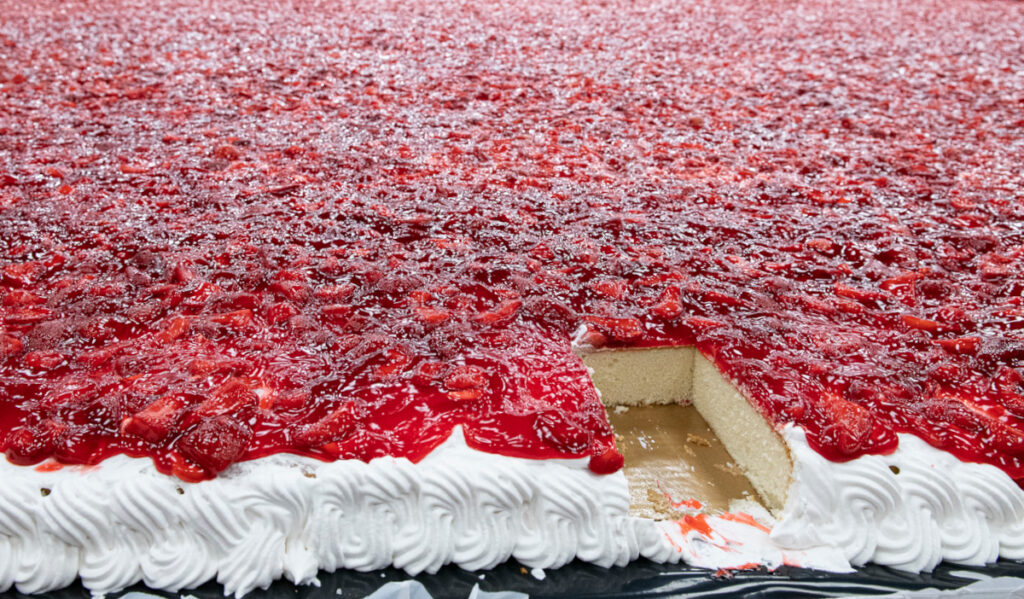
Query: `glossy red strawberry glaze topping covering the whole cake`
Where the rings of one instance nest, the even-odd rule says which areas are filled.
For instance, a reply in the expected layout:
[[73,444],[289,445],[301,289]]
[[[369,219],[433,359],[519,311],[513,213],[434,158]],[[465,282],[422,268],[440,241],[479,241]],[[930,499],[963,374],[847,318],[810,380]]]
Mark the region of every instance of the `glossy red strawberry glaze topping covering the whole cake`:
[[610,472],[587,324],[1024,478],[1024,6],[517,4],[5,7],[8,459]]

